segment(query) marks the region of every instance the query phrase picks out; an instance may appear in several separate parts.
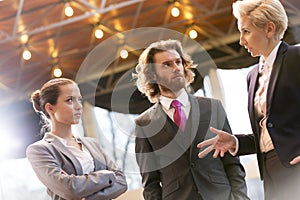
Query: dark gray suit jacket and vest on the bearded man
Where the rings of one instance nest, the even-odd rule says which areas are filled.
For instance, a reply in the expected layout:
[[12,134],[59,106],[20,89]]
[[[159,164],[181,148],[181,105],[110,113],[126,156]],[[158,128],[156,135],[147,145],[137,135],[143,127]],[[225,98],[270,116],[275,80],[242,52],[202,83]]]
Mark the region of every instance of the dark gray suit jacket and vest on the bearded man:
[[[198,158],[197,144],[214,135],[210,126],[231,131],[218,100],[189,95],[191,111],[181,132],[156,103],[136,119],[136,158],[146,200],[248,199],[238,157]],[[202,198],[199,196],[202,196]]]

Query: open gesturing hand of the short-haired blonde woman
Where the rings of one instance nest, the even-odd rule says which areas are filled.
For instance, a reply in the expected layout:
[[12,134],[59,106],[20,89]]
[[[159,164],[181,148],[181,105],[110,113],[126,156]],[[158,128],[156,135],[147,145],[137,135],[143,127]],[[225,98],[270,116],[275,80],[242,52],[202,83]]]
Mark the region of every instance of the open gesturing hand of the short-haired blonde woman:
[[206,149],[199,152],[198,157],[203,158],[206,154],[211,152],[213,149],[215,150],[213,157],[216,158],[219,154],[221,157],[224,157],[224,154],[228,150],[235,150],[236,140],[232,134],[229,134],[225,131],[218,130],[210,127],[209,130],[212,133],[215,133],[217,136],[208,140],[204,140],[203,142],[197,145],[197,148],[201,149],[205,146],[208,146]]

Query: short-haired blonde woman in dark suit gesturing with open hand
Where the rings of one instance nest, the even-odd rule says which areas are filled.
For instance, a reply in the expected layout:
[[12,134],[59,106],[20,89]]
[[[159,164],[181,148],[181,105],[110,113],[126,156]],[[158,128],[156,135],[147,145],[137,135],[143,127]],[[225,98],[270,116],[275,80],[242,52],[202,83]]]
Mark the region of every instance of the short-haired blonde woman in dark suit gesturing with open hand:
[[248,112],[253,134],[217,136],[200,157],[215,150],[233,155],[257,153],[265,199],[300,199],[300,47],[281,41],[288,18],[279,0],[233,3],[240,45],[259,63],[248,74]]

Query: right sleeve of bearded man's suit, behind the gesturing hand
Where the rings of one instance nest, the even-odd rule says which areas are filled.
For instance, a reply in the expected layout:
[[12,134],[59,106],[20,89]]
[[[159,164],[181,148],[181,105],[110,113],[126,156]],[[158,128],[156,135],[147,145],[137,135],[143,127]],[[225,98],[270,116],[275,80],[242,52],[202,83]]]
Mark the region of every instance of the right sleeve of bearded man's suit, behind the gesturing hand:
[[[228,133],[232,133],[226,112],[220,101],[218,104],[218,127]],[[245,170],[240,163],[239,157],[233,157],[230,153],[225,153],[225,156],[221,158],[226,175],[231,185],[231,199],[232,200],[244,200],[249,199],[247,196],[247,185],[245,182]]]

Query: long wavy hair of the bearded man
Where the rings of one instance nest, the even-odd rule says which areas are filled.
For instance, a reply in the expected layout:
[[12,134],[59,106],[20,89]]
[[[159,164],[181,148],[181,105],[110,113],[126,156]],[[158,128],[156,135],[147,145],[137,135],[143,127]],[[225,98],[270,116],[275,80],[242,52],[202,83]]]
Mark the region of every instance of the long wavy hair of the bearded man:
[[195,68],[196,65],[193,64],[191,57],[183,51],[182,45],[178,40],[161,40],[152,43],[140,55],[139,62],[135,68],[136,73],[133,74],[137,88],[148,97],[151,103],[157,102],[161,95],[158,84],[153,79],[155,74],[154,55],[168,50],[176,50],[182,59],[187,91],[190,90],[190,83],[194,81],[195,73],[192,71],[192,68]]

